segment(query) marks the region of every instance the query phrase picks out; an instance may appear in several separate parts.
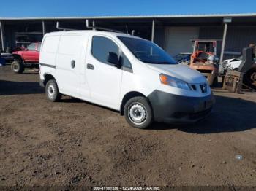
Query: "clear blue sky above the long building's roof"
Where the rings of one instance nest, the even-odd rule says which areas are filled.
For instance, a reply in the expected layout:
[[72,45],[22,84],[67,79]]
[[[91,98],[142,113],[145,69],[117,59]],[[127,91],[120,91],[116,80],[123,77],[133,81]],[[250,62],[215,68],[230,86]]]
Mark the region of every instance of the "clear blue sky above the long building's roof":
[[253,13],[255,0],[1,0],[0,17]]

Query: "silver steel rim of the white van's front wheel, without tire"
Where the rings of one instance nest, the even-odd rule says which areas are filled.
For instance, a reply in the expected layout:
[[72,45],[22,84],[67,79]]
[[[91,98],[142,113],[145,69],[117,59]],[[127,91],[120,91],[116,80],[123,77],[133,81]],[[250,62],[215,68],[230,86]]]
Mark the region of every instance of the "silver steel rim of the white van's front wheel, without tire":
[[141,125],[146,121],[147,112],[145,106],[140,103],[133,103],[129,106],[129,120],[135,125]]

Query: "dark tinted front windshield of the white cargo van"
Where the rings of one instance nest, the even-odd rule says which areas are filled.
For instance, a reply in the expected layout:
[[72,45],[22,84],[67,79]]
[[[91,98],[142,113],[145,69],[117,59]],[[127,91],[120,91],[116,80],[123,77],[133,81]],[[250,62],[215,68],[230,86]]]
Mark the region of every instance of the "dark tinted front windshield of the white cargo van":
[[156,44],[137,38],[118,36],[138,60],[154,64],[178,64],[170,55]]

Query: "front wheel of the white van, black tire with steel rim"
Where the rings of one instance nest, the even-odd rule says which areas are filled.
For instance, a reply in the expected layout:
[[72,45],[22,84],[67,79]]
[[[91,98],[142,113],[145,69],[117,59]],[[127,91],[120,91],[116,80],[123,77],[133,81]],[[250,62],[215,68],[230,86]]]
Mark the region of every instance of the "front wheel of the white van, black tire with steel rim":
[[148,128],[153,122],[153,113],[147,98],[130,98],[124,105],[124,117],[134,128]]

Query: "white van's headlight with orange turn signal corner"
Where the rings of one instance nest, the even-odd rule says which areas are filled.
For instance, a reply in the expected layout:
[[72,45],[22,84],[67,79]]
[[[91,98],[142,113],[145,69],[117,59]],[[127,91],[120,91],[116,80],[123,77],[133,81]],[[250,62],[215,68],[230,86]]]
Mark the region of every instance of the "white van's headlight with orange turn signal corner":
[[192,90],[187,82],[184,82],[176,77],[170,77],[166,74],[159,74],[159,78],[161,83],[164,85],[170,85],[172,87],[178,87],[184,90]]

